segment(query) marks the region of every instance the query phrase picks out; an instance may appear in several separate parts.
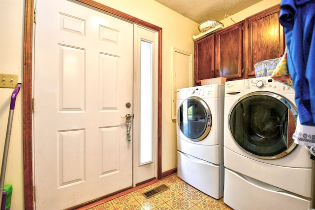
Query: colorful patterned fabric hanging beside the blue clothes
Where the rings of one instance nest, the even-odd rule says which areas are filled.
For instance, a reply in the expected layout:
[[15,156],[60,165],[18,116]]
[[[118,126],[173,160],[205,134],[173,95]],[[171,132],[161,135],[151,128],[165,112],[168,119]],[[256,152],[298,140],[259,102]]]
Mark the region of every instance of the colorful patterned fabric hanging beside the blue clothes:
[[290,72],[287,68],[287,48],[285,48],[284,55],[282,56],[280,62],[278,63],[276,69],[272,72],[271,77],[281,83],[288,86],[293,86],[292,78]]

